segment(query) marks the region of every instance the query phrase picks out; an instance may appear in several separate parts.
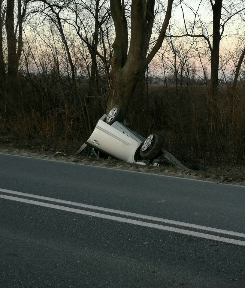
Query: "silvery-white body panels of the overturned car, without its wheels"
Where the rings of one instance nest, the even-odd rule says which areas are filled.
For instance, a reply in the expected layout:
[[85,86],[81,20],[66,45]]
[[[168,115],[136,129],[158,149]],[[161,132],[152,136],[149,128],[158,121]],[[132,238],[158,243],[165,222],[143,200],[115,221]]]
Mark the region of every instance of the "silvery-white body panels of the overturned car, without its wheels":
[[[97,122],[89,139],[76,152],[78,155],[87,145],[105,154],[125,162],[143,164],[138,158],[138,150],[146,140],[146,137],[130,127],[115,121],[109,125],[104,120],[104,114]],[[137,161],[139,160],[139,161]]]

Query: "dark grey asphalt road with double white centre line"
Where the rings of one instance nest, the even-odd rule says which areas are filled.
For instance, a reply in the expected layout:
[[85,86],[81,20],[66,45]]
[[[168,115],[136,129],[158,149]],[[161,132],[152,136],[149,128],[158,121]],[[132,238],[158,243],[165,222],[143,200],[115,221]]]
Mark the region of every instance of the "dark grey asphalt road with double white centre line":
[[0,287],[245,288],[244,211],[242,186],[0,154]]

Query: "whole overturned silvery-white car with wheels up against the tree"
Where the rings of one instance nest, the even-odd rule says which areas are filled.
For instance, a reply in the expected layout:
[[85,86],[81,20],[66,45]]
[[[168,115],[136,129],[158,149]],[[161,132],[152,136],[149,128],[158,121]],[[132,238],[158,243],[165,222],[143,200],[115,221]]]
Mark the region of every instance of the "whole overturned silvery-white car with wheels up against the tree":
[[104,114],[97,122],[89,139],[78,149],[76,155],[86,146],[92,148],[96,157],[120,159],[130,163],[142,164],[152,161],[161,153],[163,139],[159,134],[148,137],[128,125],[120,107],[114,107],[108,115]]

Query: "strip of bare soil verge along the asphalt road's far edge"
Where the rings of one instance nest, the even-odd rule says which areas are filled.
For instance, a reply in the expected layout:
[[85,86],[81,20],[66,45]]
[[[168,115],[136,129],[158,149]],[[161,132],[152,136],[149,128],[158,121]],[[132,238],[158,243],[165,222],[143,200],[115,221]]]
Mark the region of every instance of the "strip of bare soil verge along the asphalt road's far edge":
[[74,155],[76,150],[80,148],[81,144],[78,144],[76,148],[58,149],[44,145],[40,146],[38,143],[22,143],[19,140],[12,139],[11,137],[0,137],[0,152],[11,155],[53,159],[101,167],[111,167],[115,169],[133,170],[138,172],[178,176],[191,179],[209,180],[227,184],[245,185],[244,163],[237,166],[230,164],[231,161],[227,159],[223,162],[220,159],[219,161],[216,159],[215,162],[208,163],[208,165],[206,165],[206,171],[184,171],[174,167],[174,165],[168,161],[164,162],[163,165],[156,167],[153,165],[131,164],[114,159],[97,159],[91,153],[89,147],[84,149],[80,155]]

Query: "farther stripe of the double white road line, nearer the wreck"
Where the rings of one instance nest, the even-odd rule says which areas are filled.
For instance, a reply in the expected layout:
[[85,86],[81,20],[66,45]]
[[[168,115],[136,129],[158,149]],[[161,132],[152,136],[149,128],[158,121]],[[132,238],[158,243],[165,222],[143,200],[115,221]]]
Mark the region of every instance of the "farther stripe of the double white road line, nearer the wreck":
[[31,197],[34,199],[46,200],[46,201],[50,201],[50,202],[73,205],[73,206],[82,207],[82,208],[89,208],[89,209],[103,211],[103,212],[115,213],[115,214],[120,214],[120,215],[124,215],[124,216],[130,216],[130,217],[137,217],[137,218],[141,218],[141,219],[145,219],[145,220],[152,220],[152,221],[168,223],[168,224],[177,225],[177,226],[183,226],[183,227],[188,227],[188,228],[194,228],[194,229],[205,230],[205,231],[209,231],[209,232],[216,232],[216,233],[221,233],[221,234],[225,234],[225,235],[231,235],[231,236],[237,236],[237,237],[244,237],[245,238],[245,234],[239,233],[239,232],[233,232],[233,231],[217,229],[217,228],[212,228],[212,227],[206,227],[206,226],[201,226],[201,225],[196,225],[196,224],[191,224],[191,223],[179,222],[179,221],[175,221],[175,220],[169,220],[169,219],[164,219],[164,218],[159,218],[159,217],[147,216],[147,215],[142,215],[142,214],[137,214],[137,213],[132,213],[132,212],[126,212],[126,211],[120,211],[120,210],[115,210],[115,209],[110,209],[110,208],[99,207],[99,206],[93,206],[93,205],[88,205],[88,204],[83,204],[83,203],[71,202],[71,201],[55,199],[55,198],[50,198],[50,197],[45,197],[45,196],[33,195],[33,194],[29,194],[29,193],[22,193],[22,192],[17,192],[17,191],[2,189],[2,188],[0,188],[0,192],[5,192],[8,194],[20,195],[20,196],[24,196],[24,197]]

